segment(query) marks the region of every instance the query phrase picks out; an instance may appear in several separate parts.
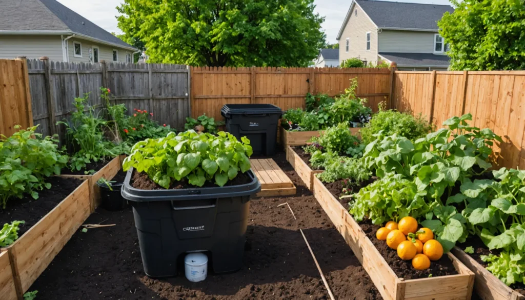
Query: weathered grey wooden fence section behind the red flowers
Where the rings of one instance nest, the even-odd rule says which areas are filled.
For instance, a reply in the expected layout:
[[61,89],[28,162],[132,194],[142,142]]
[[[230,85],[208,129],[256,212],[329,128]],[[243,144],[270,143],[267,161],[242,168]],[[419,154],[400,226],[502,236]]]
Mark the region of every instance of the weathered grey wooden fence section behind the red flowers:
[[73,100],[89,93],[89,104],[101,107],[100,87],[111,90],[113,102],[153,112],[153,120],[182,129],[190,115],[189,70],[184,65],[64,63],[28,60],[33,119],[45,135],[64,130],[56,121],[68,119]]

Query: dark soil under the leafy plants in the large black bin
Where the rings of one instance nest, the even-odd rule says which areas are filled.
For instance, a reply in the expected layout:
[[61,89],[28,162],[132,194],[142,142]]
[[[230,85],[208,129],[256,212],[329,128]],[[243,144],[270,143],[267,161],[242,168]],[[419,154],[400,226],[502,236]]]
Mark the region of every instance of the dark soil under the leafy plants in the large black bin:
[[[245,174],[239,172],[237,174],[237,177],[235,177],[233,180],[228,181],[224,186],[230,187],[232,185],[241,185],[251,182],[251,178]],[[137,170],[133,170],[133,174],[131,176],[131,186],[135,189],[141,189],[141,190],[164,190],[163,187],[161,187],[159,184],[154,182],[150,179],[148,174],[144,172],[137,172]],[[215,182],[206,181],[203,188],[216,188],[217,184]],[[181,189],[195,189],[195,185],[192,185],[188,183],[185,180],[181,181],[174,181],[170,185],[170,190],[181,190]]]

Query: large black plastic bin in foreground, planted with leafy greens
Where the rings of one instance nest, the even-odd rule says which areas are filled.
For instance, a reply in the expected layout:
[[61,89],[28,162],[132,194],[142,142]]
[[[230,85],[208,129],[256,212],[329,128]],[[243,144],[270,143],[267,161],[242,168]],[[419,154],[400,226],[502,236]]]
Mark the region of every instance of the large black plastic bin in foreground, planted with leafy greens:
[[[139,190],[128,171],[122,196],[133,207],[142,264],[153,278],[177,275],[177,260],[186,252],[209,251],[215,273],[243,265],[250,197],[261,190],[251,182],[230,187],[181,190]],[[182,271],[184,272],[184,270]]]

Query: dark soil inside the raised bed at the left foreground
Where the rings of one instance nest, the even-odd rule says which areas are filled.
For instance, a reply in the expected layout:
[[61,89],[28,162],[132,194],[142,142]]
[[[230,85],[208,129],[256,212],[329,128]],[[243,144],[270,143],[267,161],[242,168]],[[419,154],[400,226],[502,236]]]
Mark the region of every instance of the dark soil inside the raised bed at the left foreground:
[[78,179],[60,177],[49,177],[46,182],[51,183],[51,189],[38,192],[38,200],[30,195],[23,199],[9,199],[6,209],[0,209],[0,225],[25,221],[18,226],[18,236],[22,236],[82,183]]

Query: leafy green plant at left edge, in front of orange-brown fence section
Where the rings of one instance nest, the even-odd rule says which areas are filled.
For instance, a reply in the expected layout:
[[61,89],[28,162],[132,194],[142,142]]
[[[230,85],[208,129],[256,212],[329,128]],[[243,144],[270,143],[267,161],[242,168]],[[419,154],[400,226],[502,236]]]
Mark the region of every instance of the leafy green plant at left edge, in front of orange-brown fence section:
[[8,138],[0,136],[0,204],[4,209],[10,198],[30,194],[38,199],[38,191],[51,188],[46,178],[59,175],[67,163],[56,136],[43,137],[36,129],[18,130]]

